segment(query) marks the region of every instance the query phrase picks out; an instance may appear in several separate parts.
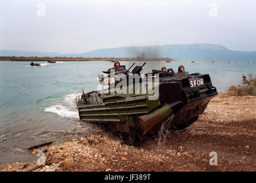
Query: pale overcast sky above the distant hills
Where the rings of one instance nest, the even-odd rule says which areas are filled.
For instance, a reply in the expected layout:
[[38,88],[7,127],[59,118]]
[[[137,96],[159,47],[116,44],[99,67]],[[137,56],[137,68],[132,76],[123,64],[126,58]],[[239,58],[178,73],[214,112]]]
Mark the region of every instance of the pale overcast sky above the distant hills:
[[179,43],[255,51],[256,1],[0,1],[1,50],[83,53]]

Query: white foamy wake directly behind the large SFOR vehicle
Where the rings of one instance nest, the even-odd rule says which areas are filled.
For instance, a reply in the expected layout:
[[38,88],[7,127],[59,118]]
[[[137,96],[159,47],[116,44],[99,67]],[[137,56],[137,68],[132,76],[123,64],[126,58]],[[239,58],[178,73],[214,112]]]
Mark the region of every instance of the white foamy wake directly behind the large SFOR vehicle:
[[73,93],[65,96],[60,104],[50,106],[44,109],[44,112],[56,113],[61,117],[79,119],[79,114],[76,109],[75,97],[79,94]]

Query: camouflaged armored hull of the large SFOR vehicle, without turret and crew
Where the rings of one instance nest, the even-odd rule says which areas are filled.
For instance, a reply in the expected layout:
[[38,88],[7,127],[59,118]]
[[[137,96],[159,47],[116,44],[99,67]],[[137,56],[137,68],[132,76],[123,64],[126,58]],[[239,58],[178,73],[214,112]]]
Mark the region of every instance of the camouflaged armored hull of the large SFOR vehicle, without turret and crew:
[[[87,93],[84,98],[77,96],[80,120],[102,124],[106,130],[133,144],[147,134],[157,132],[162,122],[170,120],[170,117],[169,128],[196,118],[218,94],[208,74],[174,74],[152,70],[145,77],[147,81],[155,80],[156,75],[158,83],[152,89],[157,86],[159,93],[153,100],[150,99],[150,90],[144,94],[94,91]],[[145,83],[139,81],[138,84],[141,87]]]

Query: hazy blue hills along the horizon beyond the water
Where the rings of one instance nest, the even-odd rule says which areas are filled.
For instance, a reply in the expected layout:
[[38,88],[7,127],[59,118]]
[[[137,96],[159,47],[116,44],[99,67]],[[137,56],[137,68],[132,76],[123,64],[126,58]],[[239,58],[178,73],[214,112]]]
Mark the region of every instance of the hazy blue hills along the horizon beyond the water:
[[37,56],[37,57],[169,57],[187,60],[216,61],[256,61],[256,51],[233,51],[222,45],[190,44],[190,45],[160,45],[160,46],[129,46],[108,49],[96,49],[86,53],[59,54],[56,52],[41,53],[38,51],[0,50],[0,56]]

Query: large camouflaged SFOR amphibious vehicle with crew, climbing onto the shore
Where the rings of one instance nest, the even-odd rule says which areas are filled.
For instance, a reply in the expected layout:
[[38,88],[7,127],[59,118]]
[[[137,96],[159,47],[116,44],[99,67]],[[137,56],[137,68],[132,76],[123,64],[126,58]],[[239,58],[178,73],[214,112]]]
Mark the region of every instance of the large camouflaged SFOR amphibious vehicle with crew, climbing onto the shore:
[[175,128],[195,121],[218,94],[209,74],[189,74],[182,66],[178,73],[164,67],[142,75],[143,65],[130,72],[132,66],[126,70],[118,62],[112,72],[103,71],[107,76],[99,74],[103,87],[76,97],[80,120],[101,124],[134,144],[166,122],[168,128]]

